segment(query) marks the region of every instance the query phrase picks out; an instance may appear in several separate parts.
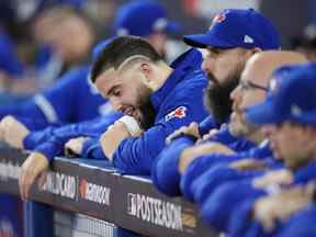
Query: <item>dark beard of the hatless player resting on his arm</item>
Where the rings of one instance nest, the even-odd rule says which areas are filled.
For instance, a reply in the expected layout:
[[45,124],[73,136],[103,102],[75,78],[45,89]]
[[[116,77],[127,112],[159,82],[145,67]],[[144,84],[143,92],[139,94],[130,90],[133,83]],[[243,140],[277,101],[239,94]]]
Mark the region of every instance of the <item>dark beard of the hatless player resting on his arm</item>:
[[150,101],[153,91],[148,88],[143,89],[144,95],[138,100],[138,110],[140,111],[139,125],[144,131],[153,127],[156,120],[156,110]]

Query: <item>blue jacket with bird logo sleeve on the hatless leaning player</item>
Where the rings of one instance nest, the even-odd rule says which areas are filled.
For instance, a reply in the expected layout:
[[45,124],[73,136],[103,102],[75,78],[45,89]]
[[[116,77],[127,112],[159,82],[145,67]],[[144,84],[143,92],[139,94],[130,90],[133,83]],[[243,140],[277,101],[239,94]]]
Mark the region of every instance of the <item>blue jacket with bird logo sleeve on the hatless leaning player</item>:
[[155,125],[142,137],[129,137],[120,144],[113,156],[116,168],[128,173],[150,174],[151,165],[165,147],[167,136],[207,116],[203,105],[207,80],[201,63],[201,53],[190,49],[171,65],[173,72],[150,98],[157,112]]

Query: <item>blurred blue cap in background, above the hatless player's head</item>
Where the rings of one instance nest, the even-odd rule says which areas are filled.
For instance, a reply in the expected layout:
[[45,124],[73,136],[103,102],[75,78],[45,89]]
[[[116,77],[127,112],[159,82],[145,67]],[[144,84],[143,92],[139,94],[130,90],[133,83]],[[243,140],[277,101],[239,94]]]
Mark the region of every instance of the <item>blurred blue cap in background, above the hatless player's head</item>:
[[134,0],[119,9],[115,35],[147,36],[154,33],[179,33],[180,25],[167,19],[161,4],[153,0]]

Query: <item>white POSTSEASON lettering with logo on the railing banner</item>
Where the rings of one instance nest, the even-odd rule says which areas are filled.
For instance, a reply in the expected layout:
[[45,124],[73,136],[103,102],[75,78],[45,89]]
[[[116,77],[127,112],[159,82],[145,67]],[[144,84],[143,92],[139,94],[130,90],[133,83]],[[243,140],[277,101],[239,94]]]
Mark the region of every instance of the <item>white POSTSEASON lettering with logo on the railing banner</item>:
[[180,205],[139,193],[127,193],[127,199],[129,215],[155,225],[183,230]]

